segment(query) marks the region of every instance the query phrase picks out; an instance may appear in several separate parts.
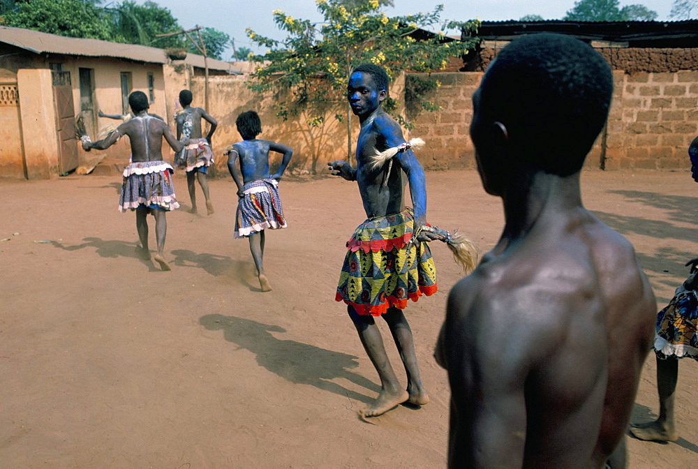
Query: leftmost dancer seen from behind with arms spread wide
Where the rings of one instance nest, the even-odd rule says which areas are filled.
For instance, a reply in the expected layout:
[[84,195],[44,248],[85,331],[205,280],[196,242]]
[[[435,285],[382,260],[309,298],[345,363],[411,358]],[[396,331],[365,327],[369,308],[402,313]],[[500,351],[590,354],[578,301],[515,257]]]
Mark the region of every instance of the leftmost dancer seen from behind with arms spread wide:
[[128,96],[128,104],[133,111],[133,119],[121,124],[104,140],[94,143],[83,142],[85,151],[103,150],[111,147],[122,135],[128,135],[131,142],[131,164],[124,170],[124,183],[121,185],[119,210],[135,210],[135,225],[140,238],[141,254],[150,259],[148,248],[148,214],[155,217],[155,232],[158,253],[155,260],[163,270],[170,270],[165,261],[165,234],[168,230],[165,212],[179,207],[172,186],[172,166],[163,161],[163,137],[174,151],[181,151],[184,144],[178,142],[170,128],[162,119],[148,114],[148,98],[142,91],[134,91]]

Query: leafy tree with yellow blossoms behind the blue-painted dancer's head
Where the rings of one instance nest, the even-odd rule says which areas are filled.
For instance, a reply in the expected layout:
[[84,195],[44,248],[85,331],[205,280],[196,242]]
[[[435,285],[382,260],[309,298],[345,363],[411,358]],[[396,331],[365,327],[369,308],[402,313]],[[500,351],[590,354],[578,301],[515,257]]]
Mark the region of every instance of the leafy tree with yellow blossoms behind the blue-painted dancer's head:
[[[463,56],[477,43],[472,37],[464,42],[447,42],[441,32],[420,40],[411,36],[418,28],[438,27],[443,6],[426,14],[387,17],[380,11],[378,0],[352,2],[349,8],[341,0],[315,3],[324,17],[320,24],[274,11],[274,22],[288,33],[282,42],[247,30],[251,40],[269,48],[266,54],[254,57],[268,65],[255,70],[255,80],[248,86],[260,94],[290,90],[290,99],[279,102],[277,115],[283,119],[297,114],[309,103],[346,101],[348,76],[359,64],[380,65],[392,80],[402,70],[429,73],[443,69],[450,57]],[[479,25],[474,20],[450,22],[447,27],[460,27],[470,34]],[[389,111],[399,105],[391,101],[386,104]],[[425,109],[433,107],[427,101],[422,104]],[[339,119],[339,115],[335,117]],[[316,120],[311,123],[318,124]]]

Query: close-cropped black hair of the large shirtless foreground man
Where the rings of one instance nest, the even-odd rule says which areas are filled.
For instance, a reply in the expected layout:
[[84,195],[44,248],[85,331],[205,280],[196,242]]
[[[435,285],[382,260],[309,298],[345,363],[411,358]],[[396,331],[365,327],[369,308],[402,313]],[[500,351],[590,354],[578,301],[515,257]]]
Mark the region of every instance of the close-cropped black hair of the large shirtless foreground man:
[[[531,34],[503,48],[480,85],[482,113],[507,128],[519,163],[568,176],[606,123],[613,75],[590,45]],[[480,111],[479,111],[480,112]]]

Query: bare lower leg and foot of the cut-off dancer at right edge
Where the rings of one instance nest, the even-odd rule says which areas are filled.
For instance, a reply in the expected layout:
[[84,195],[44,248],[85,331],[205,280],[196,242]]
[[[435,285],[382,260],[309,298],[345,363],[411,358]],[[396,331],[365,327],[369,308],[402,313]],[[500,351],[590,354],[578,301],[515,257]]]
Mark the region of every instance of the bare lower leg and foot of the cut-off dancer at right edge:
[[654,422],[630,428],[635,438],[651,441],[676,441],[678,433],[674,426],[674,398],[678,381],[678,359],[657,357],[657,391],[659,393],[659,418]]

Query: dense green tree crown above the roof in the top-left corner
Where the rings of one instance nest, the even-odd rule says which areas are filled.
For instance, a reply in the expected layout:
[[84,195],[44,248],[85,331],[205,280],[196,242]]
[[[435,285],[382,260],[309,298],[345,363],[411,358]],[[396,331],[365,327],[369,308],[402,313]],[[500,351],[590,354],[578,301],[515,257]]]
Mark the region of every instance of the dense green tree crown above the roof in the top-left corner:
[[104,11],[90,1],[31,0],[3,3],[3,24],[71,38],[111,39]]

